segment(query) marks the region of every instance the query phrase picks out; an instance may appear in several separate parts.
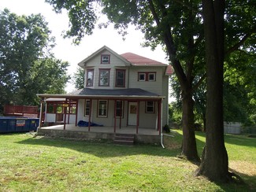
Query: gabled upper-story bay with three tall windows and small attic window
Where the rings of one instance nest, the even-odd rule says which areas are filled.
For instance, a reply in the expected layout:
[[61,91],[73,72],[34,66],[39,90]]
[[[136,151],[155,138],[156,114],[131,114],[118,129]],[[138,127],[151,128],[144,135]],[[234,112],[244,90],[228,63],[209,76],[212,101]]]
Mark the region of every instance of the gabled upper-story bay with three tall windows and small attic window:
[[85,69],[84,87],[128,88],[127,74],[131,63],[107,46],[102,46],[78,65]]

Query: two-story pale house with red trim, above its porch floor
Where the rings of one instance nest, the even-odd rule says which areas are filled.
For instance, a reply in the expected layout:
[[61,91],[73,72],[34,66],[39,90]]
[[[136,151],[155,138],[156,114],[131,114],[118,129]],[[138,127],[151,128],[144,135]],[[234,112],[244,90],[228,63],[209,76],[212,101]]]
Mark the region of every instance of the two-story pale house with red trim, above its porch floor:
[[107,46],[78,65],[84,69],[83,89],[38,94],[47,104],[45,122],[77,125],[82,120],[88,123],[89,131],[95,123],[113,127],[113,132],[131,127],[138,133],[143,127],[159,134],[169,123],[170,65],[137,54],[117,54]]

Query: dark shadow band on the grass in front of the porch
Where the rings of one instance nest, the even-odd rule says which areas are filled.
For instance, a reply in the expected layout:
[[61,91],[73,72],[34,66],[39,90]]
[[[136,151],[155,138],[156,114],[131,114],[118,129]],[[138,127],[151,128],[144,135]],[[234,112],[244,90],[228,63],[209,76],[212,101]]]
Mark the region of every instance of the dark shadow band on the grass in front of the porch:
[[160,157],[176,157],[180,150],[166,150],[161,146],[136,144],[134,146],[115,145],[112,142],[101,141],[77,141],[65,138],[35,137],[27,138],[17,144],[50,146],[76,150],[80,153],[90,153],[96,157],[122,157],[136,154]]

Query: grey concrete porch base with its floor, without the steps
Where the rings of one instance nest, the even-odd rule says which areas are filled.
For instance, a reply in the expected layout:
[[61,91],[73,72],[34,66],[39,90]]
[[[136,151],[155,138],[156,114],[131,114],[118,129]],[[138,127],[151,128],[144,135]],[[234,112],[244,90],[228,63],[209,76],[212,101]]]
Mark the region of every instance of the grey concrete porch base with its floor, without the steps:
[[75,124],[54,125],[49,127],[39,127],[37,135],[50,136],[54,138],[73,138],[73,139],[106,139],[110,142],[116,135],[134,135],[135,142],[139,143],[160,143],[161,135],[154,128],[139,127],[137,133],[136,126],[121,127],[113,132],[113,127],[77,127]]

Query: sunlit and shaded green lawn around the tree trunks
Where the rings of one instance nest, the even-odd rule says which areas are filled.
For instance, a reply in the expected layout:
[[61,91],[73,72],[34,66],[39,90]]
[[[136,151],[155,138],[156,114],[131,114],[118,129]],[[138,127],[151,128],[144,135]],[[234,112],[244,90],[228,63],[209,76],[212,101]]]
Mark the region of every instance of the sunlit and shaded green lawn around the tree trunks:
[[[256,138],[226,135],[230,168],[247,185],[195,177],[176,157],[182,136],[160,146],[116,146],[29,134],[0,135],[0,191],[250,191],[256,190]],[[197,133],[198,152],[205,137]]]

